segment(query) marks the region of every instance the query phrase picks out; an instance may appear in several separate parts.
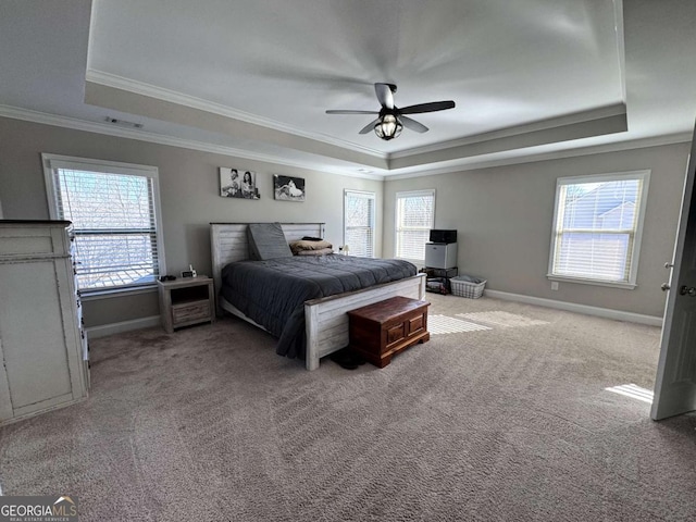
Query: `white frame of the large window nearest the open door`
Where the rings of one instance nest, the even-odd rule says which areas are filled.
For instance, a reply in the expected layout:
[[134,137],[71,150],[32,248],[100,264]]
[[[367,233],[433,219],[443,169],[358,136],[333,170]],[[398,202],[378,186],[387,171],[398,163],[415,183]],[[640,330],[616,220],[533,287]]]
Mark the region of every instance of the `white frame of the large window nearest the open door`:
[[[554,274],[554,264],[557,257],[557,248],[560,245],[558,240],[560,234],[558,232],[558,225],[561,220],[561,209],[560,209],[560,194],[561,187],[564,185],[576,185],[583,183],[607,183],[607,182],[621,182],[621,181],[631,181],[638,179],[642,182],[641,186],[641,197],[639,201],[636,204],[637,219],[635,223],[635,229],[633,231],[632,237],[632,246],[630,251],[630,261],[631,265],[629,266],[629,276],[627,281],[609,281],[609,279],[597,279],[593,277],[581,277],[581,276],[569,276],[569,275],[559,275]],[[606,174],[591,174],[584,176],[570,176],[570,177],[559,177],[556,179],[556,197],[554,202],[554,221],[551,225],[551,240],[550,240],[550,254],[548,260],[548,271],[546,277],[549,281],[558,281],[558,282],[568,282],[568,283],[580,283],[586,285],[595,285],[595,286],[607,286],[612,288],[621,288],[621,289],[634,289],[637,287],[637,276],[638,276],[638,261],[641,253],[641,244],[643,240],[643,225],[645,221],[645,211],[647,208],[648,200],[648,188],[650,185],[650,170],[641,170],[641,171],[627,171],[627,172],[613,172]],[[601,231],[598,231],[601,232]]]

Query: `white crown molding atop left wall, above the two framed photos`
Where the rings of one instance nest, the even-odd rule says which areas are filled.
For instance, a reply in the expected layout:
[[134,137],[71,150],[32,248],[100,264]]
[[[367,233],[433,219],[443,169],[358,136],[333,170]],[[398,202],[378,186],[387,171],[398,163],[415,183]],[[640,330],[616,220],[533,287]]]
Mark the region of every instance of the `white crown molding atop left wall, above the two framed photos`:
[[32,111],[28,109],[22,109],[12,105],[0,104],[0,116],[9,117],[12,120],[22,120],[26,122],[40,123],[44,125],[52,125],[57,127],[72,128],[74,130],[84,130],[87,133],[103,134],[107,136],[114,136],[119,138],[136,139],[138,141],[148,141],[158,145],[166,145],[170,147],[178,147],[183,149],[198,150],[201,152],[211,152],[214,154],[231,156],[235,158],[241,158],[245,160],[262,161],[264,163],[273,163],[284,166],[293,166],[296,169],[312,170],[322,172],[325,174],[333,174],[337,176],[348,177],[361,177],[373,181],[384,181],[384,176],[378,174],[366,174],[362,172],[345,173],[335,172],[318,166],[308,166],[301,162],[288,161],[281,157],[271,154],[260,154],[249,152],[247,150],[236,149],[234,147],[224,147],[222,145],[206,144],[202,141],[196,141],[192,139],[175,138],[172,136],[164,136],[162,134],[149,133],[147,130],[139,130],[135,128],[116,127],[108,125],[105,123],[89,122],[85,120],[78,120],[75,117],[61,116],[57,114],[49,114],[46,112]]

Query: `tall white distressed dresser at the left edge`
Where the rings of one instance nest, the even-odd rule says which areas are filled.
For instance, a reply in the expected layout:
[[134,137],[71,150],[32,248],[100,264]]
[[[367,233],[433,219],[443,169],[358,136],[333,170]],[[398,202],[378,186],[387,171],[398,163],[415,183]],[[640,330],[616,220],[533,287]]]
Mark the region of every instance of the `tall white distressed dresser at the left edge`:
[[0,424],[87,396],[67,221],[0,221]]

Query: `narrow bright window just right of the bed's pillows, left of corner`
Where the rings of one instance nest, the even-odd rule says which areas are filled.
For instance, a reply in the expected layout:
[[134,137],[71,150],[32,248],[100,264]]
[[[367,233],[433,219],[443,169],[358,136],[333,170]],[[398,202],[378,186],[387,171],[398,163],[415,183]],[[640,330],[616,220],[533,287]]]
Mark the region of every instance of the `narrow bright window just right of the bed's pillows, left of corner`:
[[374,192],[345,191],[344,245],[351,256],[374,258]]

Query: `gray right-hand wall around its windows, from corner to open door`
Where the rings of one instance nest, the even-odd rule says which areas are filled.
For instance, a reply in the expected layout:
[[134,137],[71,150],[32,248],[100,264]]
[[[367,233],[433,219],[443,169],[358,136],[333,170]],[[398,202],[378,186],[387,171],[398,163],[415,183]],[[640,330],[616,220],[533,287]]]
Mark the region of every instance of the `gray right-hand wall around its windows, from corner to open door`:
[[[487,278],[486,288],[579,304],[661,316],[682,200],[688,145],[679,144],[509,166],[387,181],[384,190],[385,257],[394,256],[395,192],[435,188],[435,226],[459,231],[459,270]],[[651,170],[633,290],[546,277],[556,178]]]

